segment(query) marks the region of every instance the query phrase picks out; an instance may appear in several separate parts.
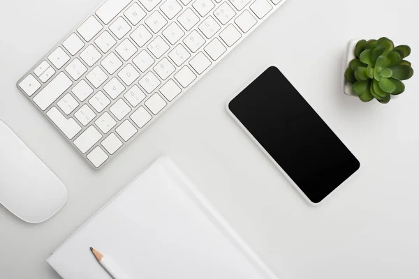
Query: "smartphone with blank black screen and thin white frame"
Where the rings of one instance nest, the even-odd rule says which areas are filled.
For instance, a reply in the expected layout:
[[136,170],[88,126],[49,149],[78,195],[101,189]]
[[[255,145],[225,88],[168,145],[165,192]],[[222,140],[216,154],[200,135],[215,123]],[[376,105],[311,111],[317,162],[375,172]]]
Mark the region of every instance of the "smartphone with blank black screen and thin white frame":
[[265,70],[228,107],[311,202],[321,202],[360,167],[276,67]]

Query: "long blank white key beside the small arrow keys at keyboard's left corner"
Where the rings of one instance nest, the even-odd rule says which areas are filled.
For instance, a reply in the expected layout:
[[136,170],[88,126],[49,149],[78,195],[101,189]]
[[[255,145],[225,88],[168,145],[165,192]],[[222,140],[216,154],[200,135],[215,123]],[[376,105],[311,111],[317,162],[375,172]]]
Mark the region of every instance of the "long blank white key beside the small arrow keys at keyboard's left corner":
[[[34,102],[41,110],[46,110],[47,107],[54,103],[55,100],[70,88],[72,84],[73,82],[66,74],[61,72],[34,97]],[[34,86],[35,85],[36,84],[34,84]]]

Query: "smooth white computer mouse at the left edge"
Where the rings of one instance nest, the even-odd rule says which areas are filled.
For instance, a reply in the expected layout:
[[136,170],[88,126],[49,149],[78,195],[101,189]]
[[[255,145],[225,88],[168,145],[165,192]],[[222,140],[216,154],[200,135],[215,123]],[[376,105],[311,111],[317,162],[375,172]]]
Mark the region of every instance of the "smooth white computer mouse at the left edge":
[[57,175],[0,120],[0,204],[27,223],[41,223],[66,201]]

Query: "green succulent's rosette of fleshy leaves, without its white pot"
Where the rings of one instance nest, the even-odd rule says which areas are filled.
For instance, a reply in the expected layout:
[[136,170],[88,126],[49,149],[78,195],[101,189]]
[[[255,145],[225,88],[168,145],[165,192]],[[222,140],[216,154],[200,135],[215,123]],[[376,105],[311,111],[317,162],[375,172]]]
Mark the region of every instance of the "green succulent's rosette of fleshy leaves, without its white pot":
[[404,92],[402,80],[413,76],[413,68],[404,60],[411,53],[407,45],[395,47],[392,40],[360,40],[355,46],[356,58],[349,62],[345,80],[363,102],[376,98],[388,103],[390,95]]

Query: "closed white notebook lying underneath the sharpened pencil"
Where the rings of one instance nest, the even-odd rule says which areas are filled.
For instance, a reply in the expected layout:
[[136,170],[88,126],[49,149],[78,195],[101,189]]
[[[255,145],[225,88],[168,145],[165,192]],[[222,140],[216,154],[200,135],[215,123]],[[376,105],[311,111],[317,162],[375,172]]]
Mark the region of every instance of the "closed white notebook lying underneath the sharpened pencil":
[[109,279],[89,247],[129,278],[277,279],[167,156],[137,176],[47,262],[64,279]]

